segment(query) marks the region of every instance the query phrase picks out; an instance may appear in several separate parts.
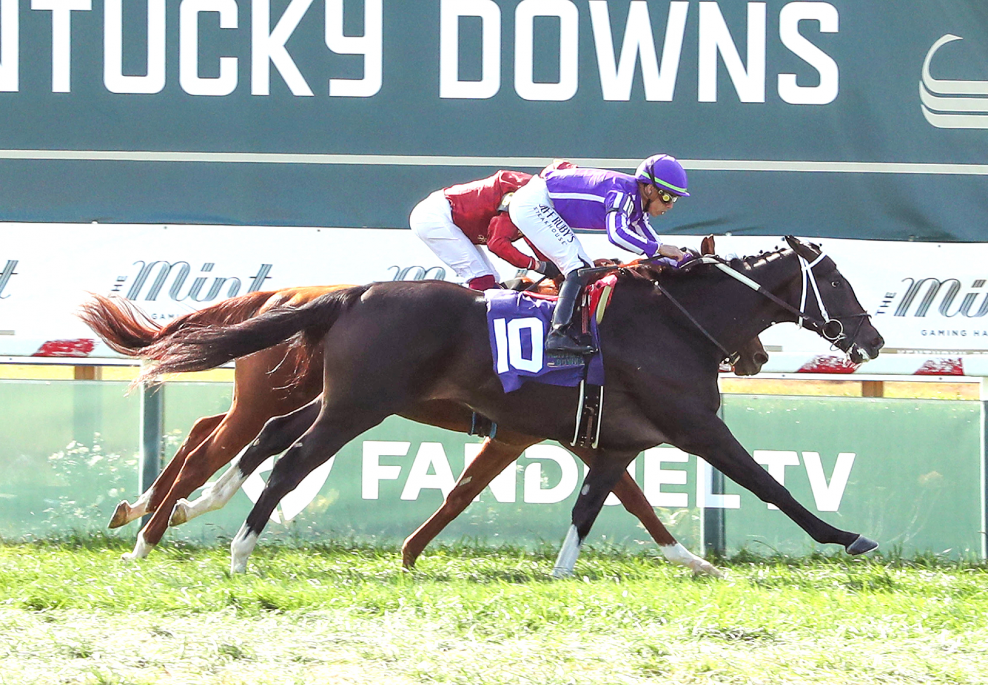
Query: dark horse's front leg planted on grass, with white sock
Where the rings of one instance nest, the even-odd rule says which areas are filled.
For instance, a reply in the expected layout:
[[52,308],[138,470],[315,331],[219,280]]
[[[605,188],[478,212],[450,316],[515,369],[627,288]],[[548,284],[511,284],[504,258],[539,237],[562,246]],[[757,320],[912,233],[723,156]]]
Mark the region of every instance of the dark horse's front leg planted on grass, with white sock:
[[562,578],[573,573],[576,557],[580,556],[580,548],[597,520],[597,515],[601,513],[604,500],[636,456],[637,453],[597,451],[594,464],[587,471],[580,495],[573,506],[572,524],[552,568],[554,577]]

